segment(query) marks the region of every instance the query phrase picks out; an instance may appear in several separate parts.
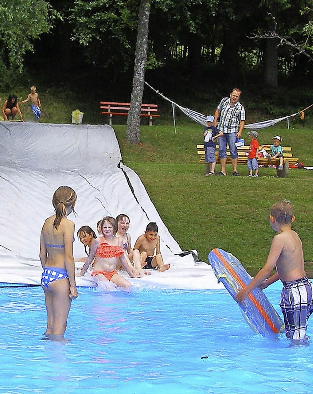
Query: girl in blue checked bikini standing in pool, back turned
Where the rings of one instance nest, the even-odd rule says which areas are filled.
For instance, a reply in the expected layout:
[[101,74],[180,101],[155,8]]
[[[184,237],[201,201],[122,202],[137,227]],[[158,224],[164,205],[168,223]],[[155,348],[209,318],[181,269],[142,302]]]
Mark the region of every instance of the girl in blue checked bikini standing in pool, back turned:
[[55,215],[45,220],[40,235],[41,285],[48,316],[44,335],[53,341],[65,341],[71,302],[78,297],[73,257],[75,225],[67,219],[70,213],[75,213],[76,199],[73,189],[59,187],[52,198]]

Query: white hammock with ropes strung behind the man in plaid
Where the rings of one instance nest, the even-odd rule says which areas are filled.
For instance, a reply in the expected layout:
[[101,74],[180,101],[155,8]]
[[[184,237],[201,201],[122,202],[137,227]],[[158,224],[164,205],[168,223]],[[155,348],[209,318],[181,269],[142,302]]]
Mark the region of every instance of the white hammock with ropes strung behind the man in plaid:
[[[189,108],[182,107],[181,105],[175,103],[174,101],[170,100],[168,97],[164,96],[163,93],[160,93],[158,90],[153,88],[151,85],[148,84],[148,82],[144,81],[146,85],[149,86],[150,89],[155,91],[157,94],[159,94],[164,100],[169,101],[172,103],[172,111],[173,111],[173,121],[174,121],[174,130],[176,134],[176,123],[175,123],[175,107],[179,108],[180,111],[182,111],[186,116],[188,116],[190,119],[195,121],[198,124],[201,124],[202,126],[206,126],[206,115],[201,114],[200,112],[193,111]],[[265,129],[270,126],[274,126],[276,123],[279,123],[283,120],[287,119],[287,126],[289,129],[289,118],[293,116],[297,116],[301,114],[301,119],[304,117],[304,111],[308,110],[311,108],[313,104],[309,105],[308,107],[304,108],[301,111],[295,112],[294,114],[284,116],[284,117],[279,117],[277,119],[270,119],[270,120],[264,120],[262,122],[257,122],[257,123],[250,123],[245,125],[245,129],[254,129],[254,130],[260,130],[260,129]]]

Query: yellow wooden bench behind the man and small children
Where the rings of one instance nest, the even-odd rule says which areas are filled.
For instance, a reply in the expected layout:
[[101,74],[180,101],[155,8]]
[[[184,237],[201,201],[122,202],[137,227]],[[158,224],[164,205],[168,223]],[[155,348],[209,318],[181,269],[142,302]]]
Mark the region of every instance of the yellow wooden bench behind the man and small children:
[[[264,149],[268,153],[271,153],[270,148],[264,148]],[[262,164],[265,167],[267,167],[269,165],[275,165],[276,171],[277,171],[277,176],[279,176],[280,178],[287,177],[289,164],[295,164],[299,161],[299,159],[297,157],[293,156],[291,147],[284,146],[283,150],[284,150],[284,152],[283,152],[283,155],[284,155],[283,170],[278,169],[279,159],[274,159],[274,160],[269,161],[266,157],[259,157],[258,164],[259,165]],[[238,152],[238,164],[246,164],[247,165],[247,162],[248,162],[247,153],[249,153],[249,145],[240,146],[239,148],[237,148],[237,152]],[[204,152],[204,145],[203,144],[197,145],[197,154],[200,156],[199,163],[204,164],[205,163],[205,152]],[[215,148],[215,158],[216,158],[216,162],[220,163],[219,147],[218,146],[216,146],[216,148]],[[231,157],[230,157],[230,152],[228,150],[228,146],[227,146],[226,164],[231,164]]]

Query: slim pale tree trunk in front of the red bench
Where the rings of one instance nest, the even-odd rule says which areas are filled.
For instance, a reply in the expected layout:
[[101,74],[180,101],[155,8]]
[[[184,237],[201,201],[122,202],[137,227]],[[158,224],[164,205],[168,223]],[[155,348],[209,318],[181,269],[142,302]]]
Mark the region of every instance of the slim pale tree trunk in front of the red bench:
[[151,0],[141,0],[139,7],[133,91],[126,129],[126,138],[132,143],[140,142],[140,112],[147,61],[150,3]]

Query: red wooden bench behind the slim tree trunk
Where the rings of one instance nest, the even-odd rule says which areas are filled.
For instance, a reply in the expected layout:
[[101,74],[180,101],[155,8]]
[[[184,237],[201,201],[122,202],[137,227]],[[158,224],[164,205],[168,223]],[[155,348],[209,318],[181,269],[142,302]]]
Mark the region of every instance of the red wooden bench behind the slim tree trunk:
[[[122,115],[127,116],[130,108],[130,103],[115,103],[110,101],[100,101],[100,114],[108,115],[109,124],[112,126],[112,116]],[[152,118],[159,117],[157,114],[158,108],[157,104],[141,104],[140,116],[149,117],[149,126],[152,126]],[[105,110],[105,111],[103,111]]]

